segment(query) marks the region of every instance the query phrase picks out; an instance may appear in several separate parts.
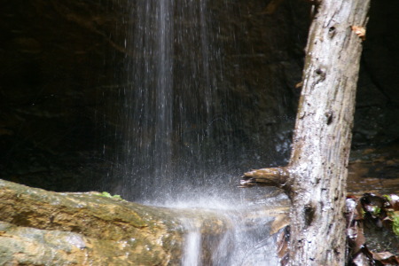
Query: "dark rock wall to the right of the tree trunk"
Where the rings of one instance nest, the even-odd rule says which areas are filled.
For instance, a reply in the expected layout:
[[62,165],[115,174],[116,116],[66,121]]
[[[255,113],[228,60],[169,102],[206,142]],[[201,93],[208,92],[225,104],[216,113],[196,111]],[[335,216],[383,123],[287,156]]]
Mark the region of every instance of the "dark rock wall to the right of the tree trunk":
[[372,1],[356,95],[353,146],[378,146],[397,140],[399,127],[399,6]]

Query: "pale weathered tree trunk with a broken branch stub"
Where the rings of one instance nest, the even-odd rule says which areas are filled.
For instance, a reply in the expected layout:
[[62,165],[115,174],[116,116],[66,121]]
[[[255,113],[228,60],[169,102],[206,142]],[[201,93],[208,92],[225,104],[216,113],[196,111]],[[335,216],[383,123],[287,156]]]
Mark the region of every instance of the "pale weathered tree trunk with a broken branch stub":
[[241,181],[278,184],[289,194],[291,265],[345,264],[348,156],[369,3],[315,5],[290,162],[246,173]]

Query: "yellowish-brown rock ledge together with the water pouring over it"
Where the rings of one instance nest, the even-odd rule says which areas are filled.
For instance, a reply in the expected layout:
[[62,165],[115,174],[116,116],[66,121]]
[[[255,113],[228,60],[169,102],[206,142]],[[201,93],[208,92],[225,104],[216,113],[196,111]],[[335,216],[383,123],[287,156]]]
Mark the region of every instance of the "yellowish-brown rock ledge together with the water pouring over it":
[[[0,264],[239,265],[253,257],[253,249],[270,260],[262,250],[262,241],[273,239],[270,226],[258,227],[256,220],[287,219],[288,211],[281,199],[255,209],[253,216],[231,210],[236,217],[231,220],[229,211],[148,207],[102,195],[46,192],[0,180]],[[233,224],[238,221],[241,226]],[[243,239],[234,234],[251,231],[255,241],[240,246]],[[236,259],[226,256],[226,245]]]

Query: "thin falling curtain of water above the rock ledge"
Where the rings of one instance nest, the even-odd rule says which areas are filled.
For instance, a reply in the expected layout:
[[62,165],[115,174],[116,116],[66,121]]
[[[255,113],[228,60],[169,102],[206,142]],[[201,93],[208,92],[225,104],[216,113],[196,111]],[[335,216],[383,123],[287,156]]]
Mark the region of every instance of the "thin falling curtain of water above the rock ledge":
[[118,192],[129,200],[169,200],[237,171],[237,118],[212,16],[205,0],[133,5],[117,173],[124,176]]

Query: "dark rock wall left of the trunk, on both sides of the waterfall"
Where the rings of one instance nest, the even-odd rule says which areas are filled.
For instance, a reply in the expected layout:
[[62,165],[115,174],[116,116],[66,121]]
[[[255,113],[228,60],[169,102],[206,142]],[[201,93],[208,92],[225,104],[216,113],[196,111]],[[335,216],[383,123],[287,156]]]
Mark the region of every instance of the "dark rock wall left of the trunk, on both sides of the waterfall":
[[[218,81],[217,94],[230,95],[229,102],[212,103],[213,108],[218,115],[240,109],[240,118],[228,117],[229,123],[218,128],[225,136],[234,133],[232,144],[223,137],[215,143],[244,143],[245,153],[253,154],[262,143],[253,158],[259,164],[284,161],[289,153],[298,95],[293,85],[301,79],[301,47],[309,24],[302,20],[306,4],[299,1],[281,4],[272,14],[263,12],[265,6],[257,1],[239,1],[229,8],[223,1],[207,3],[216,21],[209,29],[219,34],[224,57],[225,77]],[[4,4],[0,177],[77,192],[98,190],[102,179],[114,175],[126,62],[136,59],[125,47],[134,8],[129,1],[114,0]],[[270,148],[274,141],[280,143],[276,149]]]

